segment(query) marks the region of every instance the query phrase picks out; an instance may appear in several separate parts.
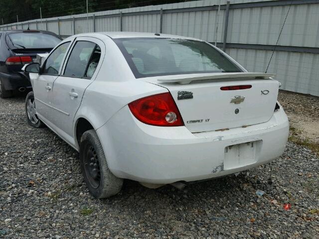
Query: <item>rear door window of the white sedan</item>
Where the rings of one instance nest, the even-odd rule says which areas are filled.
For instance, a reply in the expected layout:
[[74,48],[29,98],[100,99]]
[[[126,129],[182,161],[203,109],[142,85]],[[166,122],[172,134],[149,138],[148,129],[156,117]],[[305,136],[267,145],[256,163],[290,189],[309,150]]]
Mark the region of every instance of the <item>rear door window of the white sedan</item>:
[[90,41],[77,41],[66,63],[63,76],[91,78],[101,56],[100,47]]

